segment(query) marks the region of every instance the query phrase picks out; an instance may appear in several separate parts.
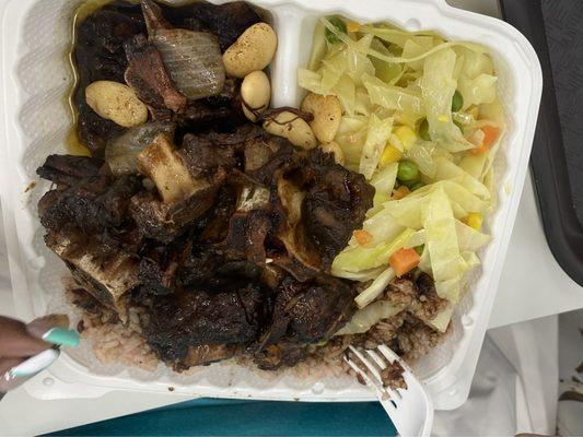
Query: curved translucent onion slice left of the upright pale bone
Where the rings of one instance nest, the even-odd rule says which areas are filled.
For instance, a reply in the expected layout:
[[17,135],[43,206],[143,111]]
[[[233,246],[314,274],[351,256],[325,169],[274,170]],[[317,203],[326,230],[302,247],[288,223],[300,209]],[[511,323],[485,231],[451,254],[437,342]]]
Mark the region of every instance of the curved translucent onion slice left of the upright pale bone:
[[116,176],[138,173],[138,154],[149,146],[159,133],[174,135],[174,125],[168,122],[150,122],[128,129],[120,137],[114,138],[105,147],[105,161]]

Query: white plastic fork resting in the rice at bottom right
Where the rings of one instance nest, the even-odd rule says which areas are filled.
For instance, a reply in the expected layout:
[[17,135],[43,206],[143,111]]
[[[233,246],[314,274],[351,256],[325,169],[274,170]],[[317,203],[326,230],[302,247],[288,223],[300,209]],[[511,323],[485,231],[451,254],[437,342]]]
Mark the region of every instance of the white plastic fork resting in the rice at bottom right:
[[[375,350],[350,346],[350,351],[352,356],[345,355],[345,361],[375,391],[399,435],[429,436],[433,424],[433,403],[409,366],[384,344]],[[403,377],[407,389],[394,390],[383,383],[381,371],[387,368],[387,364],[395,362],[404,369]]]

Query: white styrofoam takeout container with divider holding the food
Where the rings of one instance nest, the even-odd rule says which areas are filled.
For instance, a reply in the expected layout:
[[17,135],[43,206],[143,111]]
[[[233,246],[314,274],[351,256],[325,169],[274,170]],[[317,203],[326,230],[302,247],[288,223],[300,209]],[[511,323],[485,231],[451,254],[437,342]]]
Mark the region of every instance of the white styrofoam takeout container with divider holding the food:
[[[471,282],[453,319],[447,341],[417,365],[436,409],[459,406],[467,398],[525,179],[541,93],[535,51],[512,26],[448,7],[444,0],[252,0],[268,10],[279,36],[271,68],[273,105],[296,105],[302,92],[296,69],[307,61],[318,16],[338,13],[361,22],[388,21],[409,31],[433,29],[492,49],[508,134],[497,163],[498,208],[488,218],[492,243],[481,253],[482,274]],[[72,72],[67,60],[71,19],[80,0],[8,0],[2,13],[0,80],[4,139],[1,201],[14,303],[24,319],[55,309],[62,294],[62,262],[43,244],[36,203],[48,188],[35,169],[50,153],[66,152],[71,116],[67,95]],[[32,181],[38,186],[25,193]],[[45,378],[27,386],[43,399],[98,397],[113,390],[188,393],[206,397],[301,401],[362,401],[372,393],[348,376],[299,378],[218,364],[190,376],[161,368],[147,374],[103,367],[89,351],[63,354]]]

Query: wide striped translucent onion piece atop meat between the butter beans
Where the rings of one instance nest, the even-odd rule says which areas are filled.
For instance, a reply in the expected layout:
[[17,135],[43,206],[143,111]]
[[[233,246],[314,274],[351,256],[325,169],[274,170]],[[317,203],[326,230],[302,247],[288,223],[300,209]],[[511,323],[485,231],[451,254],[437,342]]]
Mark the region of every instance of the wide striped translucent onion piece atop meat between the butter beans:
[[151,37],[176,87],[189,99],[217,95],[225,71],[219,38],[184,28],[158,29]]

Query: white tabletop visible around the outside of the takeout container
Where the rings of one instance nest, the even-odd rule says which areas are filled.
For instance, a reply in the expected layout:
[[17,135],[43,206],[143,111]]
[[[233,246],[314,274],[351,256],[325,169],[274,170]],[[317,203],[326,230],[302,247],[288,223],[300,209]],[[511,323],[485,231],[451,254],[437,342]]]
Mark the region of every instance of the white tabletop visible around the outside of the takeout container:
[[[494,15],[495,0],[451,0],[451,4]],[[0,236],[0,314],[13,315],[8,260]],[[555,261],[538,215],[530,179],[526,181],[490,328],[583,308],[583,290]],[[100,399],[40,401],[24,388],[0,402],[0,435],[33,436],[132,414],[189,398],[176,394],[114,392]]]

